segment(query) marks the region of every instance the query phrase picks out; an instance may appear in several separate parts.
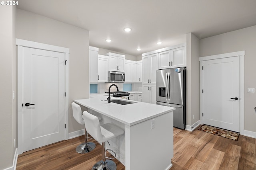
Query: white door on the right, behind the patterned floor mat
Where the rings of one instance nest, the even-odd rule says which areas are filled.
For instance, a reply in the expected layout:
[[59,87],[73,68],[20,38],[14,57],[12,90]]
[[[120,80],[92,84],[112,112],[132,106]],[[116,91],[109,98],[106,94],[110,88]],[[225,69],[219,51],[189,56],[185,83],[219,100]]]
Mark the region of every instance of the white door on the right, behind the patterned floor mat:
[[203,61],[203,67],[203,123],[239,132],[239,56]]

